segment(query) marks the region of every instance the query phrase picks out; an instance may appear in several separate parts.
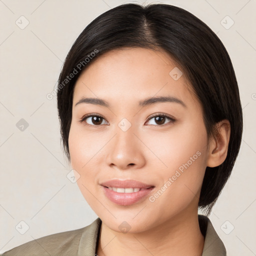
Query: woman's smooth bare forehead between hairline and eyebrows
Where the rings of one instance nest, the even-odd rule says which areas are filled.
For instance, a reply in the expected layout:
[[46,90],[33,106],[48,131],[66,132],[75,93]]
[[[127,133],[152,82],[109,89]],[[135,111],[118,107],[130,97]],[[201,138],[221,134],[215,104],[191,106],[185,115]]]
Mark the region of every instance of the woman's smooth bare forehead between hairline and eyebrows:
[[130,102],[148,96],[191,100],[182,68],[163,50],[114,49],[99,56],[78,77],[73,105],[82,96]]

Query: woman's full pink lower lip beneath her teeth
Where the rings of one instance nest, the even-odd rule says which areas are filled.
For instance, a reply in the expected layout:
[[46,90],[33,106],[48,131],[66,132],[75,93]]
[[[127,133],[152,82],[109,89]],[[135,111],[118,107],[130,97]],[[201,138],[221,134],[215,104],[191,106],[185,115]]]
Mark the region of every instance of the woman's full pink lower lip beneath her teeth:
[[133,204],[142,198],[144,198],[146,195],[148,195],[154,187],[146,188],[143,190],[139,190],[137,192],[132,193],[118,193],[115,192],[105,186],[103,187],[103,191],[105,193],[105,196],[112,202],[119,204],[119,205],[130,205]]

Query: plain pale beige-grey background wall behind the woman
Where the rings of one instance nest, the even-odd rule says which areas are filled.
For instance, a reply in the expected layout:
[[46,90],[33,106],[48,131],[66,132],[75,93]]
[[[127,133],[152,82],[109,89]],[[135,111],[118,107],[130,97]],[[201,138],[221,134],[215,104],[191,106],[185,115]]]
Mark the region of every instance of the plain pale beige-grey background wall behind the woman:
[[[56,97],[48,100],[46,94],[83,28],[124,2],[132,1],[0,0],[0,252],[83,227],[97,217],[76,183],[66,177],[71,168],[60,145]],[[145,3],[149,2],[192,12],[218,35],[230,55],[244,132],[233,172],[210,220],[228,255],[256,255],[256,0]],[[29,24],[21,29],[26,19]],[[226,29],[232,20],[234,24]],[[28,123],[23,131],[16,126],[21,118]]]

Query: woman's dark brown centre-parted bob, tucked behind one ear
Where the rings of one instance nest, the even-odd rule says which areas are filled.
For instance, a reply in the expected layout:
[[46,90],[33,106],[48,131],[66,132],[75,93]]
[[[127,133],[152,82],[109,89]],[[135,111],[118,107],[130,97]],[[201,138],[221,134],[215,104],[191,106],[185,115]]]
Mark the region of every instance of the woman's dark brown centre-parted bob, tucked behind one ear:
[[66,56],[57,87],[60,132],[68,160],[75,82],[99,56],[123,47],[157,47],[169,53],[182,68],[201,103],[208,138],[217,135],[218,121],[229,120],[231,131],[226,159],[219,166],[206,167],[202,182],[198,206],[209,214],[239,151],[242,109],[225,47],[204,22],[182,8],[168,4],[122,4],[96,17],[80,33]]

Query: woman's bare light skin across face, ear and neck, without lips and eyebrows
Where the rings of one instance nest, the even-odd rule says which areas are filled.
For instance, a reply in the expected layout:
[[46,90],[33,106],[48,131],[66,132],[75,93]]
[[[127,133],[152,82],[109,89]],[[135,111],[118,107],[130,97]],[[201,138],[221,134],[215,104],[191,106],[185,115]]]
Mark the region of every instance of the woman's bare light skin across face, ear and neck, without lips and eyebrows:
[[[99,256],[202,253],[204,237],[197,218],[201,184],[206,166],[217,166],[226,157],[230,124],[220,121],[218,138],[207,139],[200,103],[184,74],[177,80],[169,75],[174,67],[182,71],[163,50],[122,48],[95,59],[76,81],[69,152],[79,189],[102,220]],[[185,106],[178,102],[138,104],[157,96],[178,98]],[[100,98],[109,106],[75,105],[82,97]],[[80,122],[85,114],[102,118],[95,122],[90,116]],[[156,118],[161,114],[175,121]],[[118,126],[123,118],[131,124],[126,131]],[[200,156],[158,198],[149,201],[197,151]],[[134,204],[117,205],[100,185],[115,178],[135,179],[155,188]],[[130,226],[128,232],[119,229],[123,221]]]

